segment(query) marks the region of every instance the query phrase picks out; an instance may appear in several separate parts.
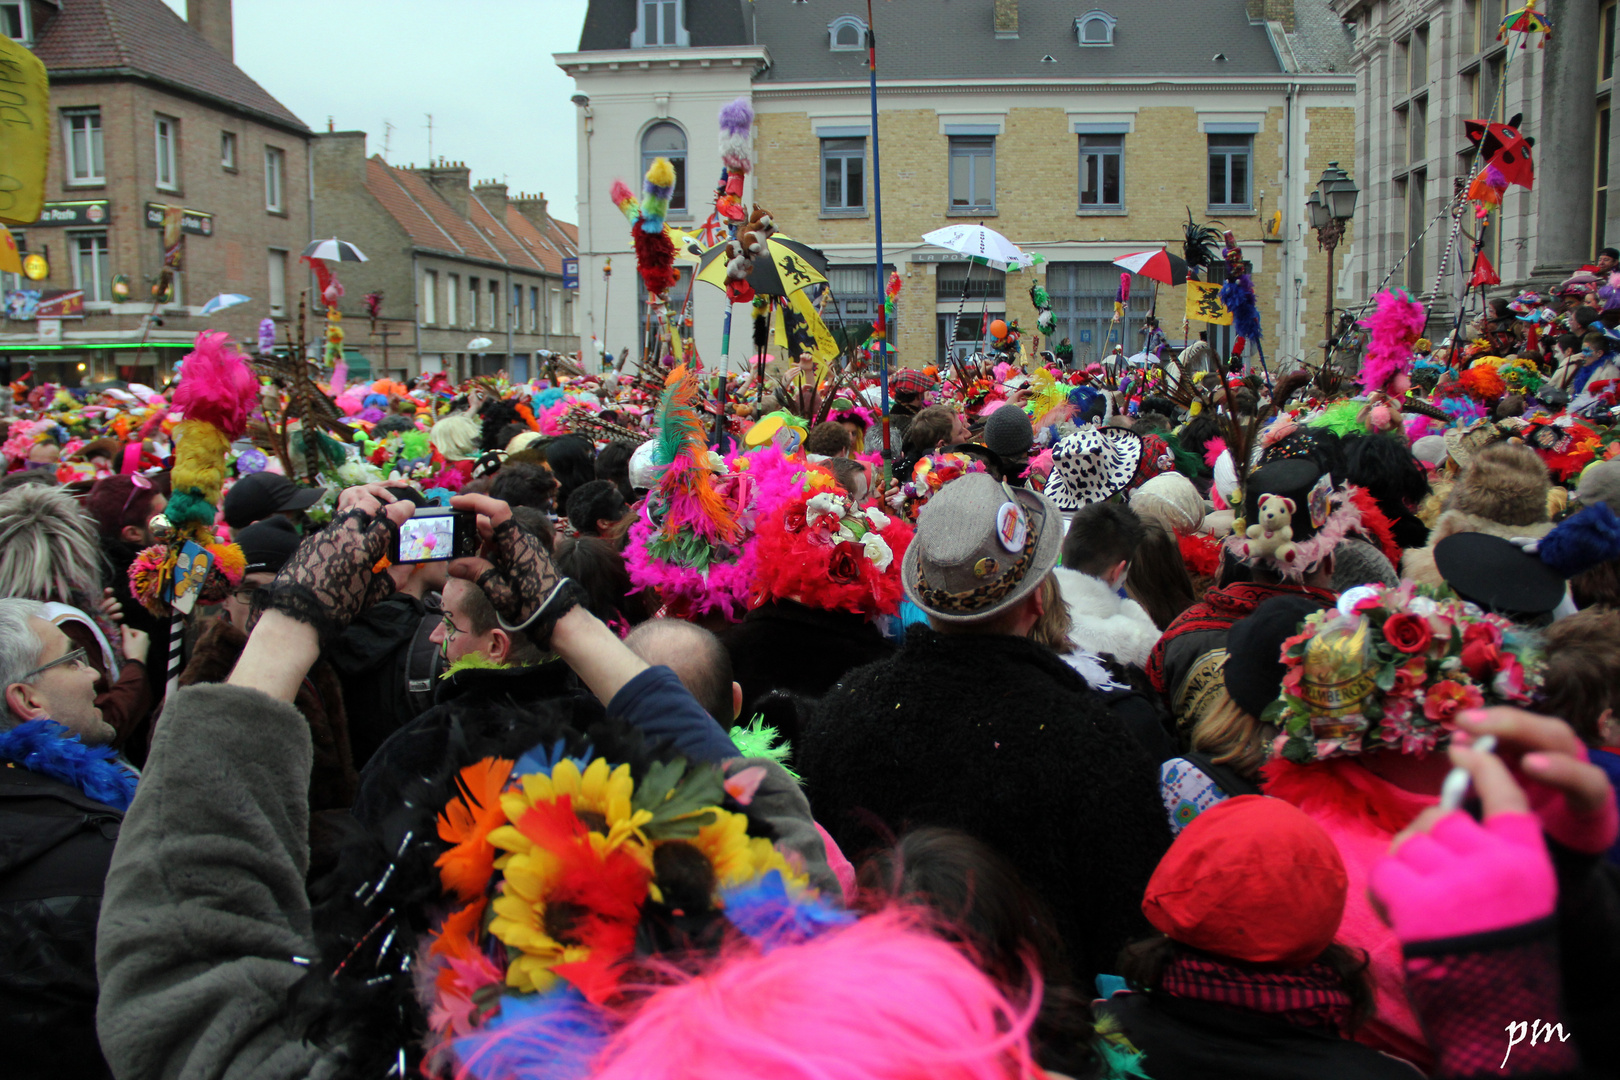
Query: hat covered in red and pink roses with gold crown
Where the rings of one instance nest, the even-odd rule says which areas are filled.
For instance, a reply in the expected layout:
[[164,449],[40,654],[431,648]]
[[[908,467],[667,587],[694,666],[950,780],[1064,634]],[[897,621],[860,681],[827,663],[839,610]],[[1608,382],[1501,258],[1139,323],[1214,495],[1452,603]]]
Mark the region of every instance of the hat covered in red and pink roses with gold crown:
[[1448,589],[1413,581],[1346,591],[1283,643],[1283,691],[1260,717],[1273,750],[1309,764],[1440,746],[1456,716],[1486,704],[1529,704],[1541,683],[1533,635]]

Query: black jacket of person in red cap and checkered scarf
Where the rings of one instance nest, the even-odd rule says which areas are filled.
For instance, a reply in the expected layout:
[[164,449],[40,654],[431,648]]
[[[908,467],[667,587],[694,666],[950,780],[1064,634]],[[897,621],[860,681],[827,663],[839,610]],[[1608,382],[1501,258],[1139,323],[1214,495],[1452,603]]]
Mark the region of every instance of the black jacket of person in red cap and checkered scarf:
[[1170,994],[1116,994],[1092,1006],[1142,1051],[1153,1080],[1418,1080],[1371,1046],[1278,1017]]

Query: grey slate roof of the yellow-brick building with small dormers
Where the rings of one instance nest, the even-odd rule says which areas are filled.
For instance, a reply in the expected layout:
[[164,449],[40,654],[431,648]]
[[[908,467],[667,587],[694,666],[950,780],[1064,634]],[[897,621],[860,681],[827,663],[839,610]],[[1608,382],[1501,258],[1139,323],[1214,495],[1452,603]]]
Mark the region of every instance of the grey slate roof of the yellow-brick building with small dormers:
[[[593,0],[596,10],[599,0]],[[771,50],[760,83],[865,79],[865,50],[833,52],[828,24],[865,21],[863,0],[758,3],[758,42]],[[878,78],[1097,78],[1278,74],[1264,23],[1244,0],[1019,0],[1017,37],[998,39],[995,0],[888,0],[876,6]],[[1082,47],[1074,19],[1116,19],[1115,44]],[[1225,60],[1215,60],[1217,53]],[[1051,62],[1045,62],[1051,57]]]

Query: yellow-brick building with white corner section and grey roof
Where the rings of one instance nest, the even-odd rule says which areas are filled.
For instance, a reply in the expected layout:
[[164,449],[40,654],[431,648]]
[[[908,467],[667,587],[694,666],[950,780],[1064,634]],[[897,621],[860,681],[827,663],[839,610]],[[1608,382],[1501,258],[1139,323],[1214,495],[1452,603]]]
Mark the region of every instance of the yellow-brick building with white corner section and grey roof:
[[[1111,261],[1179,251],[1189,209],[1243,241],[1268,355],[1314,351],[1327,274],[1304,199],[1328,162],[1353,160],[1356,123],[1351,39],[1327,0],[966,0],[948,13],[893,0],[878,18],[885,261],[902,279],[904,363],[944,355],[964,290],[966,264],[925,232],[983,222],[1045,257],[1034,272],[975,269],[959,343],[995,317],[1032,327],[1034,274],[1055,337],[1095,358],[1111,342],[1134,351],[1152,303],[1139,279],[1126,324],[1111,325]],[[603,259],[633,269],[608,186],[676,157],[690,191],[671,217],[701,222],[719,175],[714,117],[737,96],[757,113],[750,198],[826,253],[842,316],[870,321],[881,282],[863,40],[857,3],[591,2],[580,49],[556,62],[580,91],[582,304],[609,351],[635,340],[640,313],[625,303],[637,280],[614,274],[603,314]],[[723,300],[695,295],[698,345],[718,356]],[[1162,290],[1171,338],[1181,306],[1183,290]]]

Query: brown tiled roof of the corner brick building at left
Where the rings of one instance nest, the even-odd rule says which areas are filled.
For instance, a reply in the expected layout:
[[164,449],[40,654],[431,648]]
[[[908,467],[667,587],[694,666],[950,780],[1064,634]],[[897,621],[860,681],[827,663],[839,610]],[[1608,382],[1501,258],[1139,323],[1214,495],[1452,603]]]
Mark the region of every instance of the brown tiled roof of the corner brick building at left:
[[62,0],[34,42],[52,81],[134,74],[224,102],[271,123],[309,126],[209,45],[162,0]]

